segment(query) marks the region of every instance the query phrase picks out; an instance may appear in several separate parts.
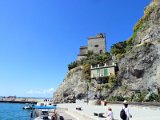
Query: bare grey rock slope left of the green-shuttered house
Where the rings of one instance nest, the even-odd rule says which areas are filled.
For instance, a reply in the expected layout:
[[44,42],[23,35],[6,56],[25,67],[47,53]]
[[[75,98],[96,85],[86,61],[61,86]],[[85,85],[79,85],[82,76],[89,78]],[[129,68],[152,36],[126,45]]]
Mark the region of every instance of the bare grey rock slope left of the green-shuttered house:
[[[77,99],[86,98],[87,88],[90,98],[93,98],[95,90],[93,84],[87,84],[82,76],[82,66],[76,67],[69,71],[62,84],[54,93],[54,102],[70,102],[69,100],[76,97]],[[90,92],[92,91],[92,92]]]

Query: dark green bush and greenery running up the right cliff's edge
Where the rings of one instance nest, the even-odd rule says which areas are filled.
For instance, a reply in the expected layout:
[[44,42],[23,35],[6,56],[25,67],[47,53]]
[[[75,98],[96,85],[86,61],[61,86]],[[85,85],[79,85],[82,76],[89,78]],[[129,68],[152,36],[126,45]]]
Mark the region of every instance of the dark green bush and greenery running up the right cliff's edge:
[[117,60],[124,57],[126,52],[130,51],[132,47],[137,44],[138,41],[136,41],[135,39],[138,35],[138,32],[142,32],[145,29],[147,29],[146,22],[149,21],[150,15],[155,10],[156,7],[157,7],[156,4],[151,3],[148,7],[145,8],[144,16],[136,23],[136,25],[133,28],[133,34],[128,40],[118,42],[111,46],[111,54],[115,55]]

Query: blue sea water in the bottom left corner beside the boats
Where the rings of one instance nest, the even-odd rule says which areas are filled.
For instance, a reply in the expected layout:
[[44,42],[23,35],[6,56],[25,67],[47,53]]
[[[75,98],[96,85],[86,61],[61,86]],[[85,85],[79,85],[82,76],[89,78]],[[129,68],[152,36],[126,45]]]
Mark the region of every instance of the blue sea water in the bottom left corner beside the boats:
[[23,110],[25,104],[0,103],[0,120],[32,120],[31,110]]

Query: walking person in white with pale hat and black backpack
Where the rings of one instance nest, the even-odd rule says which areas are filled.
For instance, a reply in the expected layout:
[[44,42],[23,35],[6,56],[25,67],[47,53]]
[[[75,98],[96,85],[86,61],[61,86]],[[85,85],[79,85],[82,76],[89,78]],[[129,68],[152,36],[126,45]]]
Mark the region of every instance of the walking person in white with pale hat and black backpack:
[[129,112],[127,100],[124,100],[122,110],[125,111],[125,115],[126,115],[126,117],[122,118],[122,120],[129,120],[129,118],[132,118],[132,115]]

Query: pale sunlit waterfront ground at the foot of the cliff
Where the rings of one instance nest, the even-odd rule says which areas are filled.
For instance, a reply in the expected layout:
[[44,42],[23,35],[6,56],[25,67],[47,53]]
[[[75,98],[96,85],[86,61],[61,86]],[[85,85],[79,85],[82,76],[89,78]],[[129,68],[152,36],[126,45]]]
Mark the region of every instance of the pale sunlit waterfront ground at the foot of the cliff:
[[[81,107],[82,110],[76,110],[76,108]],[[122,109],[121,104],[107,104],[107,106],[92,105],[84,102],[77,103],[64,103],[58,104],[57,108],[67,108],[66,113],[75,117],[77,120],[105,120],[105,118],[100,118],[94,116],[94,113],[106,113],[107,108],[111,107],[114,113],[115,120],[120,119],[120,111]],[[130,120],[159,120],[160,119],[160,107],[157,106],[138,106],[129,105],[130,113],[132,118]]]

